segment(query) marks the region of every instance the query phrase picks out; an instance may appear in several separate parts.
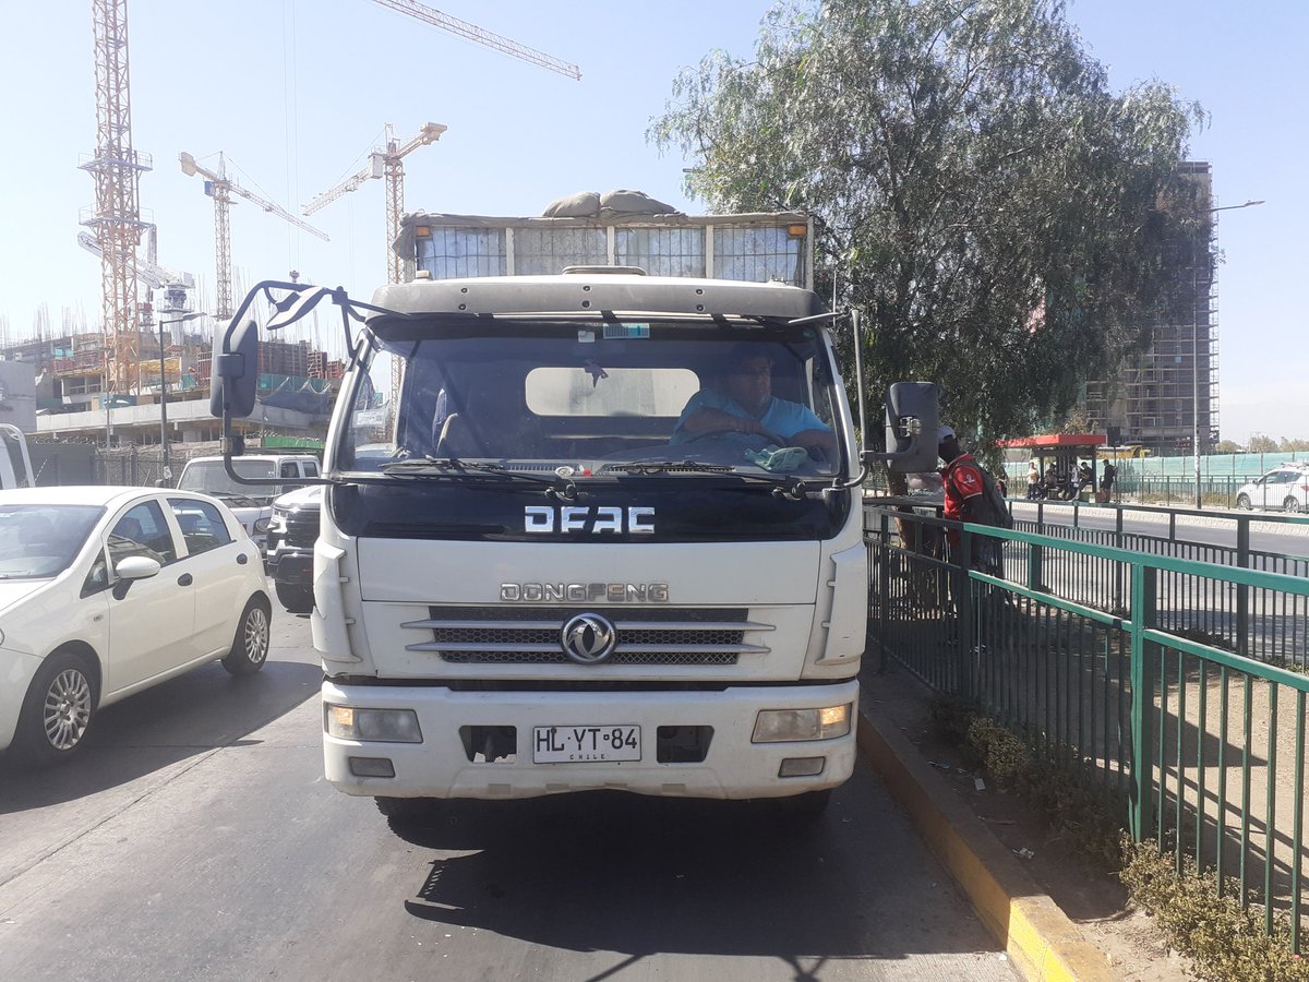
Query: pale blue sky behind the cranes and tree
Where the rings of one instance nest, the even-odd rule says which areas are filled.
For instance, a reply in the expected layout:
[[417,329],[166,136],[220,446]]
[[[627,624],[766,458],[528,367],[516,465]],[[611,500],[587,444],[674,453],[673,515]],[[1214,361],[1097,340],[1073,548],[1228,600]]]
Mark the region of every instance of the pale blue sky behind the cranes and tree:
[[[21,5],[20,5],[21,4]],[[683,161],[645,139],[677,72],[712,48],[747,58],[767,0],[436,0],[428,4],[581,69],[581,81],[386,9],[372,0],[130,0],[132,144],[149,155],[143,217],[161,266],[191,272],[213,304],[213,206],[178,153],[255,194],[301,206],[360,170],[390,123],[448,131],[404,160],[406,207],[539,215],[576,191],[636,189],[683,211]],[[77,245],[94,203],[79,169],[96,147],[89,0],[0,0],[0,342],[35,335],[45,309],[99,323],[99,261]],[[1309,3],[1071,0],[1068,20],[1122,90],[1158,79],[1210,124],[1191,158],[1213,165],[1217,213],[1220,429],[1309,437],[1309,302],[1299,297],[1309,228]],[[381,181],[312,217],[330,242],[237,198],[237,284],[283,279],[370,296],[386,278]],[[236,291],[240,302],[240,289]],[[203,322],[202,322],[203,323]],[[339,351],[339,326],[305,336]]]

